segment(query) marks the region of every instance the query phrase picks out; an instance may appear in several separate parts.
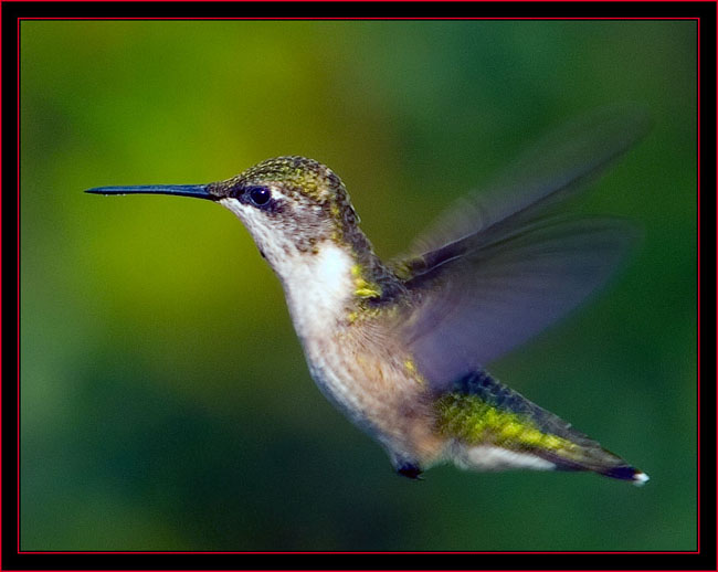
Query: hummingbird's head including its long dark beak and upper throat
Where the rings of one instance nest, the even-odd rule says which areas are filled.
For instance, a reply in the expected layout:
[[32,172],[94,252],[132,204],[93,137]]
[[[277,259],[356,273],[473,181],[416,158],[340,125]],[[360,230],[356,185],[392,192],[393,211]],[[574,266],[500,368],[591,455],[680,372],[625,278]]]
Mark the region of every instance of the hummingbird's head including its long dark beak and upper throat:
[[370,273],[379,266],[339,177],[304,157],[267,159],[209,184],[98,187],[87,192],[172,194],[219,202],[244,223],[262,255],[284,278],[297,268],[321,265],[334,274],[341,274],[345,266],[358,265]]

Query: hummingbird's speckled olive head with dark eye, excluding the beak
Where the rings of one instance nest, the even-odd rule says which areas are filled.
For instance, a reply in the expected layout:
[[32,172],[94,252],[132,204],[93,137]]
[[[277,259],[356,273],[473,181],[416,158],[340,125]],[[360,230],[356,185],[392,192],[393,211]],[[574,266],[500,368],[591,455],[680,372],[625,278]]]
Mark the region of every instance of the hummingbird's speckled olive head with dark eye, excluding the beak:
[[351,241],[359,222],[339,177],[304,157],[267,159],[207,191],[240,218],[270,263]]

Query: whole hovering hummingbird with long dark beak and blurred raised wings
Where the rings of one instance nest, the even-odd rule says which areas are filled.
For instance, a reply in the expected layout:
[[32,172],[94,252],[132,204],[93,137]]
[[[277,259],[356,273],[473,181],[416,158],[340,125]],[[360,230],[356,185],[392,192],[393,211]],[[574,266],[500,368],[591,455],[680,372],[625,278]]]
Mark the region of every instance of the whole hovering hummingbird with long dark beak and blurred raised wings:
[[[312,377],[388,453],[394,470],[648,476],[499,382],[486,366],[602,286],[635,239],[625,221],[568,203],[647,130],[604,108],[539,140],[460,202],[410,254],[382,261],[341,179],[285,156],[207,184],[99,187],[169,194],[234,213],[279,278]],[[401,208],[401,195],[397,198]]]

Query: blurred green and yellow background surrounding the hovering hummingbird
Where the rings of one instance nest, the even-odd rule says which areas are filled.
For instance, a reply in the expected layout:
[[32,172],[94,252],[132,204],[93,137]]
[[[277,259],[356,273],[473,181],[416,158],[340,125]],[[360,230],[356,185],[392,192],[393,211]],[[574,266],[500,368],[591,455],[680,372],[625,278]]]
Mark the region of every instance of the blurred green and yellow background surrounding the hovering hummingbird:
[[[693,22],[21,24],[21,548],[696,548]],[[524,144],[644,104],[587,197],[641,248],[492,364],[648,473],[395,476],[308,374],[278,282],[228,211],[102,198],[268,157],[342,177],[394,255]]]

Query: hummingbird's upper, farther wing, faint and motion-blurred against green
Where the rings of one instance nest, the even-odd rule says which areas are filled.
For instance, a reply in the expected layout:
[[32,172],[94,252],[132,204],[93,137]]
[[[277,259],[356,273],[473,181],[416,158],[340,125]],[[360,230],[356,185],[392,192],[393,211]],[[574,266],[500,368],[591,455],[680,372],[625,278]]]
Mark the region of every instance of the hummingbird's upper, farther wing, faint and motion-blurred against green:
[[460,240],[482,241],[516,229],[561,205],[595,182],[651,125],[645,109],[624,105],[601,108],[545,136],[513,160],[479,193],[450,209],[413,244],[413,253]]

